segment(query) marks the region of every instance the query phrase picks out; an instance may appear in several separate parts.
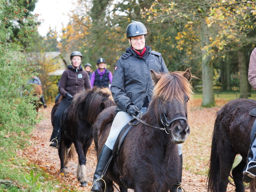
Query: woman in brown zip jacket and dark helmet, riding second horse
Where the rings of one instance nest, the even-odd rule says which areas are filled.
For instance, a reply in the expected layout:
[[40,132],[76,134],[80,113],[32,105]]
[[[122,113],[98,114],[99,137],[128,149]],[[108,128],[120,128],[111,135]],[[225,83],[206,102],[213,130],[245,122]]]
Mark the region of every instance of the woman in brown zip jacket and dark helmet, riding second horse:
[[70,55],[71,65],[67,66],[67,69],[63,72],[59,84],[59,92],[63,96],[59,107],[54,114],[54,129],[52,131],[52,136],[50,138],[50,147],[59,149],[59,142],[61,139],[61,128],[59,126],[59,120],[62,111],[66,106],[70,105],[73,96],[80,92],[85,91],[85,89],[90,89],[90,80],[86,71],[81,67],[81,62],[83,55],[79,51],[74,51]]

